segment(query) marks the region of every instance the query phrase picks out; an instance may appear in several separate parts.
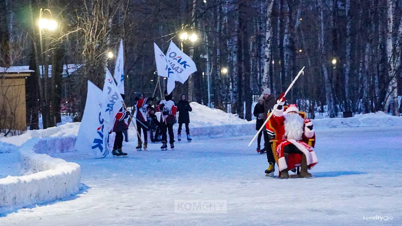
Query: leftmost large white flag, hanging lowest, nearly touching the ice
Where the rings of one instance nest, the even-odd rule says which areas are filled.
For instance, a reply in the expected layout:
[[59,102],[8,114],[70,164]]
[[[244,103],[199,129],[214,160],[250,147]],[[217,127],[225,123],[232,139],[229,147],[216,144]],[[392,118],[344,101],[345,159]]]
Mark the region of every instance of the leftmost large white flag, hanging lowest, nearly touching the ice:
[[78,130],[75,149],[103,158],[109,154],[108,135],[105,121],[100,116],[102,90],[88,81],[84,114]]

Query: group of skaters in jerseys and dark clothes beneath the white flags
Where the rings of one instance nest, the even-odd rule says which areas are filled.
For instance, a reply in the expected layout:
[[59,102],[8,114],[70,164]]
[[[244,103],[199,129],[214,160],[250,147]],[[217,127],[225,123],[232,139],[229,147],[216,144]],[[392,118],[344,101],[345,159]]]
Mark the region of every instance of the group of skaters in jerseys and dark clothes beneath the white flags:
[[[165,91],[165,98],[160,101],[156,108],[152,107],[155,99],[153,97],[145,97],[141,92],[135,93],[134,107],[133,111],[120,109],[119,113],[116,115],[116,121],[113,126],[112,132],[116,133],[115,142],[113,145],[112,154],[115,156],[127,155],[127,153],[122,152],[121,147],[123,144],[123,134],[125,134],[126,142],[127,129],[131,123],[131,118],[126,120],[130,115],[132,115],[132,120],[135,120],[137,129],[138,146],[136,150],[141,151],[144,144],[144,149],[148,148],[148,131],[150,132],[151,142],[162,142],[161,150],[167,150],[167,135],[169,135],[170,148],[174,149],[174,132],[173,125],[176,123],[176,113],[178,113],[178,131],[177,139],[181,140],[181,130],[183,124],[186,127],[187,141],[191,142],[190,136],[190,117],[189,112],[192,111],[189,101],[186,100],[184,94],[180,95],[180,100],[174,103],[172,100],[172,93],[168,95]],[[122,95],[124,99],[124,95]],[[160,112],[160,118],[155,115],[156,112]],[[143,139],[141,137],[141,132],[143,133]]]

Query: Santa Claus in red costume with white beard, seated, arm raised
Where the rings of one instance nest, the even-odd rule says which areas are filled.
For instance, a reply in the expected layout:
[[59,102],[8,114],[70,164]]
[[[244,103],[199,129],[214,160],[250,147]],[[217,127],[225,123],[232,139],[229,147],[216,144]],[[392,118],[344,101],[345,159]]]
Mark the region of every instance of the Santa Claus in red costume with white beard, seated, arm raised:
[[[282,101],[279,102],[282,98]],[[301,166],[299,177],[311,177],[307,169],[317,164],[317,156],[308,139],[315,138],[313,123],[310,119],[303,119],[299,115],[297,105],[291,104],[283,112],[285,98],[279,97],[278,108],[274,111],[271,126],[276,130],[278,140],[276,154],[279,158],[278,167],[281,178],[289,178],[288,170]],[[267,124],[268,126],[268,124]]]

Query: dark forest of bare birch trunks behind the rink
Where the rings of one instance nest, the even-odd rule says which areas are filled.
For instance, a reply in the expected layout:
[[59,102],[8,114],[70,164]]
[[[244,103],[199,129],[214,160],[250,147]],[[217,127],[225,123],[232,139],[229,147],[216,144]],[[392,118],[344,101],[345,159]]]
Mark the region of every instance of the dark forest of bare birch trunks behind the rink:
[[[264,88],[279,96],[306,66],[287,102],[310,117],[399,116],[401,16],[402,0],[0,0],[0,66],[35,70],[27,78],[31,129],[39,112],[44,128],[60,121],[62,101],[82,116],[87,80],[103,87],[103,67],[113,73],[109,52],[116,55],[120,39],[128,105],[134,92],[152,95],[153,43],[166,51],[172,40],[198,68],[185,84],[176,83],[175,99],[185,93],[251,120]],[[57,28],[39,29],[39,17],[57,21]],[[183,39],[184,32],[197,39]],[[82,66],[66,75],[66,64]],[[51,76],[41,78],[42,71]]]

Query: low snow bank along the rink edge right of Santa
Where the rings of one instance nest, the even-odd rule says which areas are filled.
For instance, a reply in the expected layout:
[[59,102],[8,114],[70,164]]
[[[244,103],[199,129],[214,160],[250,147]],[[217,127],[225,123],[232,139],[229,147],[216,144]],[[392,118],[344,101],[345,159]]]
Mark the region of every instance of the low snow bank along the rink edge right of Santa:
[[314,119],[314,127],[317,129],[336,127],[369,127],[369,126],[393,126],[402,125],[402,117],[387,115],[382,111],[377,113],[359,114],[350,118],[326,118]]

